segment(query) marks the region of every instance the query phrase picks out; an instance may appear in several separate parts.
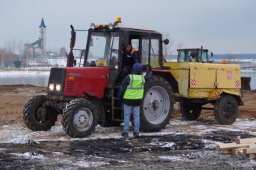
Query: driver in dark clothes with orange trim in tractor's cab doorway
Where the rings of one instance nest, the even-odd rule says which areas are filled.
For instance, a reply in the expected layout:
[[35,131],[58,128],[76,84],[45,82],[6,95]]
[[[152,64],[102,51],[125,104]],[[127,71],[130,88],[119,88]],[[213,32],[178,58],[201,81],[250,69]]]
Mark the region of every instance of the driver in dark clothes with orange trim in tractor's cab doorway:
[[122,72],[120,79],[124,79],[131,71],[135,63],[139,63],[137,51],[132,47],[132,43],[128,43],[121,49],[122,52]]

